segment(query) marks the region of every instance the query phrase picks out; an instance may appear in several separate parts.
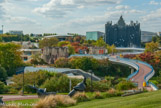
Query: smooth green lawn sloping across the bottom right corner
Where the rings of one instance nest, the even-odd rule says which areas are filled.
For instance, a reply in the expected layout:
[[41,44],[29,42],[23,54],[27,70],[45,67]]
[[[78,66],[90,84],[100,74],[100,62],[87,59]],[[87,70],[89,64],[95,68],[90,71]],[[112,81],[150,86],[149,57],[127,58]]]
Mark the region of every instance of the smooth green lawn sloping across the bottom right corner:
[[70,108],[161,108],[161,91],[79,103]]

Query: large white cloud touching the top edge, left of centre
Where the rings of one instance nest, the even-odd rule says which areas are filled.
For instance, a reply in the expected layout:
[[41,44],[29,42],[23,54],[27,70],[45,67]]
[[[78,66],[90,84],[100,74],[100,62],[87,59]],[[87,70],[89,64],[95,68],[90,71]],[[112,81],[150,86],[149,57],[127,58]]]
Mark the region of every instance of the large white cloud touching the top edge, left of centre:
[[47,17],[61,18],[76,9],[87,8],[89,6],[118,4],[120,1],[121,0],[50,0],[42,7],[35,8],[33,12]]

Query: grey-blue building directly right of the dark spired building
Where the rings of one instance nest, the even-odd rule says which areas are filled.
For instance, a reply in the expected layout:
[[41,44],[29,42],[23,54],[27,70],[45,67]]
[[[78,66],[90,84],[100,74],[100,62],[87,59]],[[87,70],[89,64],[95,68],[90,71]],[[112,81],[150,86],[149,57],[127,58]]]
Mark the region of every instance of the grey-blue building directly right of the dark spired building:
[[156,36],[157,33],[154,32],[148,32],[148,31],[141,31],[141,42],[151,42],[152,37]]

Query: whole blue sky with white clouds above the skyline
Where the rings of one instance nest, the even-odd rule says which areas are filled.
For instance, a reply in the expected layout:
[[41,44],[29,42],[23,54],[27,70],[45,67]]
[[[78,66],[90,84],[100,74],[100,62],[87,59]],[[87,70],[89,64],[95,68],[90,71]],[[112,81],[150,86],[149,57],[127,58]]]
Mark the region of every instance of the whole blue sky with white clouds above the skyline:
[[127,24],[140,22],[142,31],[161,31],[161,0],[0,0],[4,32],[104,32],[105,23],[121,15]]

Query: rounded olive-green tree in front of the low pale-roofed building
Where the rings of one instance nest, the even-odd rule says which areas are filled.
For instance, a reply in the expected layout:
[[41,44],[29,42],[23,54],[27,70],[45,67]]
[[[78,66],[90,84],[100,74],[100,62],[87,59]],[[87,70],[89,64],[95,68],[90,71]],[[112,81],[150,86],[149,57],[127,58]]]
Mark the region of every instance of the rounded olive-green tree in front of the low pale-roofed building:
[[59,40],[55,37],[53,38],[45,38],[39,42],[40,48],[44,47],[55,47],[57,46]]

